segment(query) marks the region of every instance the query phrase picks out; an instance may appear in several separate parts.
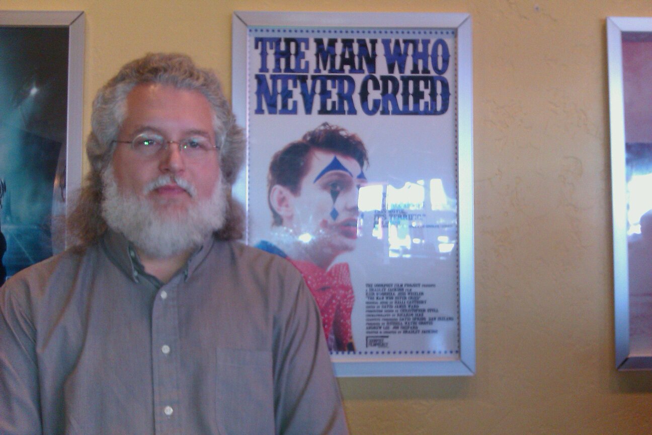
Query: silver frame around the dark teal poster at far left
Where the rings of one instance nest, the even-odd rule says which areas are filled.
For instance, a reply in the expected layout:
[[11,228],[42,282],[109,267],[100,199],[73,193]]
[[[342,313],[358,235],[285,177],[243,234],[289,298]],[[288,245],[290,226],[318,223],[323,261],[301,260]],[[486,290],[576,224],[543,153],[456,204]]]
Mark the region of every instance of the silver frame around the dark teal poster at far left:
[[[5,27],[68,28],[68,95],[66,125],[66,217],[72,211],[69,200],[82,185],[83,60],[84,12],[80,10],[23,11],[0,10],[0,25]],[[65,235],[65,245],[72,237]]]

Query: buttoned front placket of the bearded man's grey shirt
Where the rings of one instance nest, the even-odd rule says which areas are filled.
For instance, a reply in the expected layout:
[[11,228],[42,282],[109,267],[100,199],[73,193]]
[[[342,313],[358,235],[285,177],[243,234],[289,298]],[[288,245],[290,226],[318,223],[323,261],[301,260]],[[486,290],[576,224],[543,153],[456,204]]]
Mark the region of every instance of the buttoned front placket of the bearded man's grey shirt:
[[[175,283],[175,281],[177,283]],[[179,409],[178,280],[162,286],[152,310],[152,367],[156,435],[181,434]]]

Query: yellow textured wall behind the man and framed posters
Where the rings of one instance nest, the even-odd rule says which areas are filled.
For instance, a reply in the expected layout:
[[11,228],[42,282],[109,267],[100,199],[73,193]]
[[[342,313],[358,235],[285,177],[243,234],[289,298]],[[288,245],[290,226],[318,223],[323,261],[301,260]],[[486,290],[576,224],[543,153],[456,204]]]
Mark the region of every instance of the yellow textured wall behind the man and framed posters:
[[605,32],[606,16],[652,16],[649,0],[0,0],[0,9],[86,12],[84,135],[95,90],[145,52],[188,52],[230,94],[234,10],[469,12],[477,375],[342,379],[351,432],[652,433],[652,373],[614,369]]

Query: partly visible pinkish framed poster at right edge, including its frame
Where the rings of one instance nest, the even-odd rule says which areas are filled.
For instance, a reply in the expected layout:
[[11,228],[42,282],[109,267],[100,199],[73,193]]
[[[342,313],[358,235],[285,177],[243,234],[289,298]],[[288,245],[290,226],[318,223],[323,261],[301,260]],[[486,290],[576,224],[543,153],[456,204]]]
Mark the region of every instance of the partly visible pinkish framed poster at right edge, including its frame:
[[615,364],[652,368],[652,18],[607,19]]

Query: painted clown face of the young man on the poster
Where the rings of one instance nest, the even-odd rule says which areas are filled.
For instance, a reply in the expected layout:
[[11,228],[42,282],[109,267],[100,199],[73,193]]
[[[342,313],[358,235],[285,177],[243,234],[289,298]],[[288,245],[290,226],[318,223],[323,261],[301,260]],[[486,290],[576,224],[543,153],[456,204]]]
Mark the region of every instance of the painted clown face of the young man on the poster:
[[353,250],[358,189],[366,181],[360,164],[353,157],[321,150],[312,151],[308,164],[299,194],[292,198],[293,213],[284,225],[339,252]]

